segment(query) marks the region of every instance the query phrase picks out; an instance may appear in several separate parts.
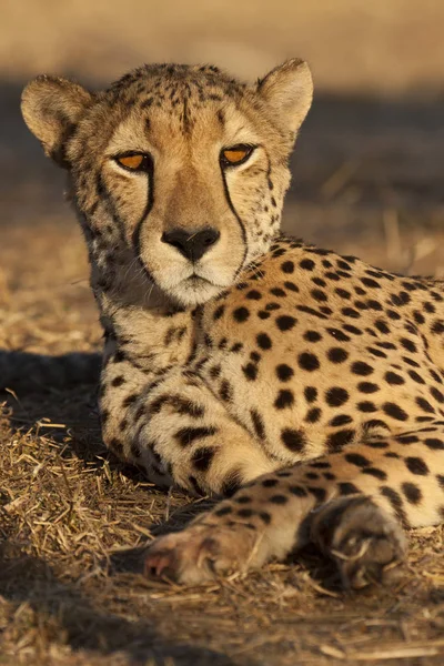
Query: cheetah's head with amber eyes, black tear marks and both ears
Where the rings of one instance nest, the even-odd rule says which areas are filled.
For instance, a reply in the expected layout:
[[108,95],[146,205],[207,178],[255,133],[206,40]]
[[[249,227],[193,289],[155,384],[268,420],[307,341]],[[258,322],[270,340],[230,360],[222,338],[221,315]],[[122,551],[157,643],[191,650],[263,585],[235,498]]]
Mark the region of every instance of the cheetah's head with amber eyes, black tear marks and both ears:
[[300,60],[254,87],[212,67],[145,65],[98,94],[40,77],[22,111],[69,169],[99,273],[117,289],[138,266],[147,290],[186,306],[268,251],[311,99]]

